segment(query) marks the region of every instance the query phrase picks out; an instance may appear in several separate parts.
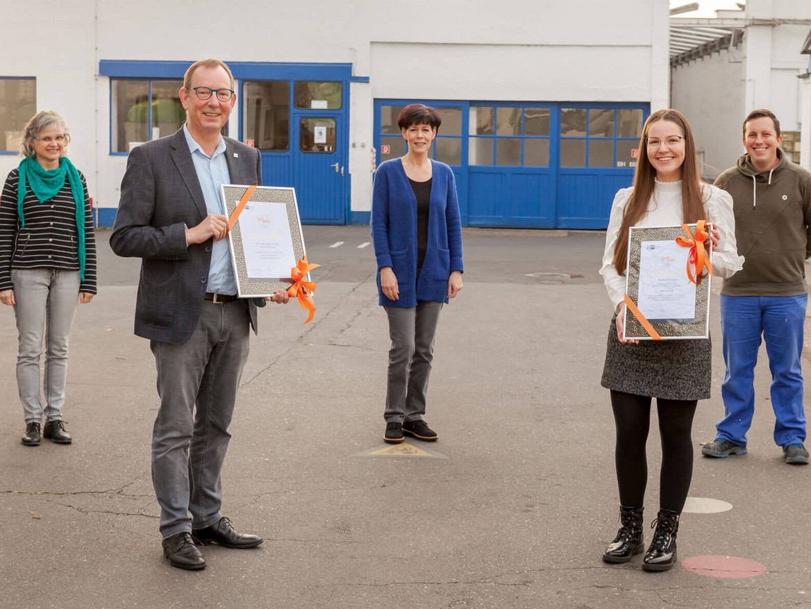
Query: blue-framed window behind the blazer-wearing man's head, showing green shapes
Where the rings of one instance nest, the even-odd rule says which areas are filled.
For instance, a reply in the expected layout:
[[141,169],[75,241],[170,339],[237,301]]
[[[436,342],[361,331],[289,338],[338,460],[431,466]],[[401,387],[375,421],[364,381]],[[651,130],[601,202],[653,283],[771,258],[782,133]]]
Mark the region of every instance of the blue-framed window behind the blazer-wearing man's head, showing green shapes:
[[178,131],[186,120],[182,86],[182,80],[110,79],[110,152]]

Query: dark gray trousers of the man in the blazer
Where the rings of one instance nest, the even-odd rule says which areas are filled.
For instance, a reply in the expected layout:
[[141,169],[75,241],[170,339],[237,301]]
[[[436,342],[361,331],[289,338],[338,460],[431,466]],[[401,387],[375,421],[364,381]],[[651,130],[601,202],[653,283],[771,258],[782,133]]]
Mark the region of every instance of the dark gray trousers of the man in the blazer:
[[206,301],[188,341],[150,341],[161,397],[152,428],[152,484],[163,538],[222,517],[220,472],[249,331],[247,302]]

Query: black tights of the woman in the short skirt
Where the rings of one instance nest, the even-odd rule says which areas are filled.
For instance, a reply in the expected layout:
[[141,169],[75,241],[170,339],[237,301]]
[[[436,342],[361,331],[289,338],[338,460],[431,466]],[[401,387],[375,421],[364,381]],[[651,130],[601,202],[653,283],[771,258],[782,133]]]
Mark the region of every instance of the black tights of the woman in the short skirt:
[[[611,391],[616,423],[616,480],[620,504],[645,505],[648,463],[645,444],[650,428],[650,397]],[[659,474],[659,508],[681,513],[693,478],[693,414],[696,400],[656,398],[659,435],[662,437],[662,471]]]

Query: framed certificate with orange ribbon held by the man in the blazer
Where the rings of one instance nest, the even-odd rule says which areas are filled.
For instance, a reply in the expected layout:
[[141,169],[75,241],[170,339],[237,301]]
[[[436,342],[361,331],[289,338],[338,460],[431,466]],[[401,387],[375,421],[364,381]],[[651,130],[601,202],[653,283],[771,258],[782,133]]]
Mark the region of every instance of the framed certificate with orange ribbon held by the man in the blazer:
[[226,184],[222,196],[239,297],[289,289],[292,269],[307,259],[294,189]]

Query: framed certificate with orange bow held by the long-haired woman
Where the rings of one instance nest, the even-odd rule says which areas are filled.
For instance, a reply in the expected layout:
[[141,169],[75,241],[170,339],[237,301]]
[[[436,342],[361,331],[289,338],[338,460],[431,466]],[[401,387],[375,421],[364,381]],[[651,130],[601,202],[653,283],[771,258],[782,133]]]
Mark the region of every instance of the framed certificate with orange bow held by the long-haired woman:
[[709,230],[705,221],[631,227],[624,338],[664,341],[709,336]]

